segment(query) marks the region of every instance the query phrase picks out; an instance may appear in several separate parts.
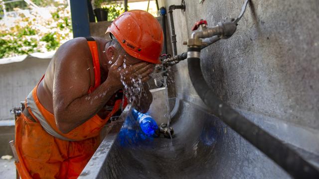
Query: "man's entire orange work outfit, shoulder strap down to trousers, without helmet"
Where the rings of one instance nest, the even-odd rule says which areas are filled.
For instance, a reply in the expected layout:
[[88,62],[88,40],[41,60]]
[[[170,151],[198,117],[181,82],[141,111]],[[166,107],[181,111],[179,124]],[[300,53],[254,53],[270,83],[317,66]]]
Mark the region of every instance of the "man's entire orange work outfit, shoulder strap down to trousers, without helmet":
[[[92,92],[101,83],[100,62],[96,42],[87,39],[95,67],[94,87],[89,89],[89,92]],[[54,115],[39,102],[37,86],[31,94],[40,114],[54,132],[70,140],[50,135],[26,105],[25,110],[29,111],[36,122],[24,114],[21,114],[15,122],[15,148],[19,159],[19,162],[15,163],[16,169],[22,179],[76,179],[98,148],[101,129],[119,110],[122,100],[115,102],[113,110],[105,119],[95,115],[71,132],[63,134],[56,126]]]

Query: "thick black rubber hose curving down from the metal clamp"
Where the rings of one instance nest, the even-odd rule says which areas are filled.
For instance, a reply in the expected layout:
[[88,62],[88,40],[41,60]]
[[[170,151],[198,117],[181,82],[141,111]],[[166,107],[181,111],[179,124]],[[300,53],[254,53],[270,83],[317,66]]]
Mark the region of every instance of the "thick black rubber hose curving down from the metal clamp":
[[319,171],[279,139],[240,115],[220,100],[202,76],[199,58],[188,58],[190,80],[204,103],[235,132],[266,154],[289,175],[298,179],[319,179]]

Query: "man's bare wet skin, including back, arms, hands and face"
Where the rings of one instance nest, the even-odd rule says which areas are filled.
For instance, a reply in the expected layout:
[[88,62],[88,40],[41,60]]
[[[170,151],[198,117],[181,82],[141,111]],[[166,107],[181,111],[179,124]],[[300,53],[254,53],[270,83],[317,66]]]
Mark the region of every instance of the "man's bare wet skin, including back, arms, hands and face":
[[[121,76],[126,77],[128,86],[132,85],[132,78],[140,78],[145,84],[154,70],[153,64],[130,56],[122,48],[111,45],[110,41],[94,39],[101,69],[101,85],[97,89],[88,94],[89,88],[94,86],[94,69],[87,40],[82,37],[59,47],[38,86],[40,103],[54,114],[62,133],[70,132],[96,114],[105,118],[107,111],[104,106],[110,103],[113,94],[123,89]],[[123,68],[124,58],[126,69]],[[145,97],[138,102],[140,106],[135,107],[146,112],[152,103],[152,94],[148,85],[143,85],[143,89]]]

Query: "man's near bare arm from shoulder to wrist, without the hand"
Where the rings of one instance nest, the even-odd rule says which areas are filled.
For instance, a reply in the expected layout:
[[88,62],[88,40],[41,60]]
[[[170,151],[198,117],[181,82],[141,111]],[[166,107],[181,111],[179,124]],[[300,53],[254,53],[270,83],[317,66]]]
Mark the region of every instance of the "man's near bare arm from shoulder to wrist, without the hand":
[[60,59],[56,60],[54,73],[54,117],[62,133],[70,132],[94,116],[119,89],[105,81],[88,94],[94,79],[90,79],[90,66],[86,62],[92,57],[86,40],[74,41],[58,50]]

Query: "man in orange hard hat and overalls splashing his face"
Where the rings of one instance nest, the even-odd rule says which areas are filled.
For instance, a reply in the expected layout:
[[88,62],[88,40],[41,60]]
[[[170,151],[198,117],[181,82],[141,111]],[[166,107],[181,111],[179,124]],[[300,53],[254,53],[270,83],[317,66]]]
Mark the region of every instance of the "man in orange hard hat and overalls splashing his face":
[[[124,107],[121,91],[127,98],[141,96],[126,89],[145,84],[160,63],[160,23],[146,11],[131,10],[107,34],[110,39],[79,37],[62,44],[26,97],[15,123],[22,179],[77,178],[100,144],[101,129]],[[133,105],[146,112],[152,94],[148,85],[141,91]]]

